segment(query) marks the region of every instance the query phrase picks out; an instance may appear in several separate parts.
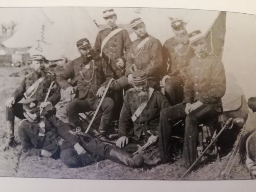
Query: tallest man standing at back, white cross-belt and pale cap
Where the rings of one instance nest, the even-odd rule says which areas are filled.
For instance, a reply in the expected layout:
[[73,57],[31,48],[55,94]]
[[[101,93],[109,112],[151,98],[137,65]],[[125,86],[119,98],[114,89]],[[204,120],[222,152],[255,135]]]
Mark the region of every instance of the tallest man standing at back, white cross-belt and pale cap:
[[[113,9],[103,11],[103,18],[107,23],[107,27],[99,31],[94,50],[108,62],[114,78],[118,79],[124,76],[126,56],[130,51],[132,41],[128,32],[116,25],[117,15]],[[122,91],[115,91],[112,97],[117,109],[115,118],[118,120],[123,104]]]

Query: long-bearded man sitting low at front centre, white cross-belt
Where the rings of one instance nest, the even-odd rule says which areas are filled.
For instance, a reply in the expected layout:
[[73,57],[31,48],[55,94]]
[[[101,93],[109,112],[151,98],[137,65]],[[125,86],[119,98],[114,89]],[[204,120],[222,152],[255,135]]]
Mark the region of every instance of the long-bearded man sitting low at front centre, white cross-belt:
[[[142,70],[132,73],[133,88],[126,91],[124,104],[119,119],[119,139],[116,145],[120,148],[136,141],[147,140],[156,142],[160,111],[169,107],[165,96],[153,88],[149,88],[147,75]],[[133,136],[128,139],[131,123],[133,122]]]

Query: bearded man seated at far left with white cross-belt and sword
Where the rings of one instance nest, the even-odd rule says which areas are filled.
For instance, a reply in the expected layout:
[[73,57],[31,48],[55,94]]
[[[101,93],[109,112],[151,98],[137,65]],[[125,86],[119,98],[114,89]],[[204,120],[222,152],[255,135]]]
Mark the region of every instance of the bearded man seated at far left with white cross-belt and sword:
[[[20,87],[5,103],[7,140],[4,144],[4,149],[9,145],[13,145],[14,142],[14,117],[16,116],[20,119],[25,118],[23,116],[23,106],[21,103],[18,103],[23,97],[25,99],[35,98],[39,102],[41,110],[43,109],[42,113],[47,114],[47,117],[56,113],[56,108],[53,106],[60,101],[60,87],[56,83],[54,74],[45,71],[45,57],[33,55],[31,61],[30,66],[33,72],[25,77]],[[50,94],[48,95],[47,101],[45,101],[51,84]]]

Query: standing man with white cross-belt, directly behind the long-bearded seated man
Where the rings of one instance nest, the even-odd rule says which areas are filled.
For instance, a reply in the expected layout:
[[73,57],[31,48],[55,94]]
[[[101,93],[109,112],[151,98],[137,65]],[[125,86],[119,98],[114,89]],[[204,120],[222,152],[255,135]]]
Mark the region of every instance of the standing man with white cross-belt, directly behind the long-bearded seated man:
[[146,26],[141,18],[132,20],[130,25],[138,39],[132,42],[126,60],[128,83],[132,85],[132,72],[140,69],[146,72],[149,87],[158,88],[163,62],[162,45],[158,39],[147,33]]

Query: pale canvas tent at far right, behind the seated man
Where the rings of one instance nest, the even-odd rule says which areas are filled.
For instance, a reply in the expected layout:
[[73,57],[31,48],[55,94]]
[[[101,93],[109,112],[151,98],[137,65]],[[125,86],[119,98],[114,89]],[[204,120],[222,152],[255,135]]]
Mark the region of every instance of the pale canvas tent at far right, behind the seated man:
[[227,12],[222,62],[225,66],[227,91],[236,83],[246,99],[256,97],[256,18],[250,14]]

